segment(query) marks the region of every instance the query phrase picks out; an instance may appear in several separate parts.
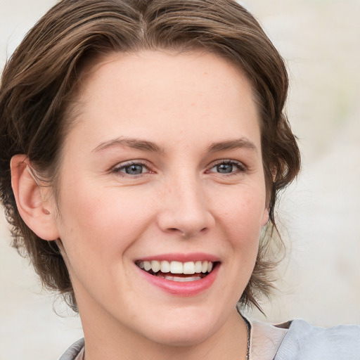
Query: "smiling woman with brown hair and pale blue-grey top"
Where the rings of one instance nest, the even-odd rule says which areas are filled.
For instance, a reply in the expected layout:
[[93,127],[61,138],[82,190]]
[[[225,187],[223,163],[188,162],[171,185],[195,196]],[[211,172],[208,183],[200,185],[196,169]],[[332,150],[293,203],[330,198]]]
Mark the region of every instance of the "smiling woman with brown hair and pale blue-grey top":
[[79,310],[61,359],[360,354],[356,326],[236,309],[270,293],[276,195],[300,169],[287,89],[230,0],[63,0],[27,34],[1,81],[1,200],[15,247]]

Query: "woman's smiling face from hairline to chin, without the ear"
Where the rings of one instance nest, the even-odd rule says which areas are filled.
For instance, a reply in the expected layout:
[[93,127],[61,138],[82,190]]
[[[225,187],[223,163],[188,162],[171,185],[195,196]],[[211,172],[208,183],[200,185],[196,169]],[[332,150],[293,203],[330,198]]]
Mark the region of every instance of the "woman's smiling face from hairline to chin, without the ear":
[[78,100],[56,227],[85,333],[191,345],[226,329],[268,219],[248,80],[210,53],[118,53]]

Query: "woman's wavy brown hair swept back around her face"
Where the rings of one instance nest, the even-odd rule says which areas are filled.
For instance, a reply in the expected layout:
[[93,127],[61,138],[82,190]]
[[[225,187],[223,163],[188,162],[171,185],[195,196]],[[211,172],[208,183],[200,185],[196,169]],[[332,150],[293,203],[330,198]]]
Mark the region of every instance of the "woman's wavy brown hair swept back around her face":
[[69,128],[65,120],[85,63],[116,51],[198,48],[231,60],[257,98],[269,224],[240,302],[259,307],[259,296],[270,293],[274,261],[268,250],[276,229],[276,196],[299,172],[300,153],[283,113],[286,68],[257,20],[233,0],[63,0],[30,30],[2,75],[0,196],[13,226],[13,245],[30,256],[44,285],[65,295],[73,309],[75,295],[58,245],[36,236],[18,213],[10,160],[27,155],[32,167],[56,184]]

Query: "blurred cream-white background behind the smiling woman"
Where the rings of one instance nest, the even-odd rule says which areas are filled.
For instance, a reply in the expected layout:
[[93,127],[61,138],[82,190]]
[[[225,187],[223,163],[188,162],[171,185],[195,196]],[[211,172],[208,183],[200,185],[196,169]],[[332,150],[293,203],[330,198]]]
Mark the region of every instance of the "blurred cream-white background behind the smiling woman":
[[[56,1],[0,0],[0,71]],[[278,219],[287,255],[271,322],[360,323],[360,1],[240,1],[262,23],[290,71],[288,115],[303,169]],[[0,215],[0,359],[58,359],[82,337],[79,318],[41,285],[10,246]],[[55,310],[55,311],[54,311]],[[56,314],[57,313],[57,314]]]

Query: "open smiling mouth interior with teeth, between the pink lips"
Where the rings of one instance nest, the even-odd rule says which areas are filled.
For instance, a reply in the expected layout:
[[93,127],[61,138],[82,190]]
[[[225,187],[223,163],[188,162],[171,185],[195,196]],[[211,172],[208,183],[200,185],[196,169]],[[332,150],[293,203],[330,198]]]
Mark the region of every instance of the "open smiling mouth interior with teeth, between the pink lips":
[[198,281],[209,275],[217,262],[198,261],[198,262],[168,262],[168,261],[136,261],[136,266],[148,274],[165,278],[170,281],[188,282]]

